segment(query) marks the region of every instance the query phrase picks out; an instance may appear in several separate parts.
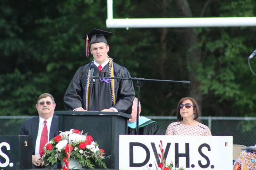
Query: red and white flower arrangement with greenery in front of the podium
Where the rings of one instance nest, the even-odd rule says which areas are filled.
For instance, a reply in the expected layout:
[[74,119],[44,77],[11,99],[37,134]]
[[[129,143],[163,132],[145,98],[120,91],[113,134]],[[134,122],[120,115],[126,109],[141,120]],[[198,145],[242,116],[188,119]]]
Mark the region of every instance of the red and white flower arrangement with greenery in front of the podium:
[[[70,158],[75,159],[84,168],[94,169],[98,164],[107,168],[104,159],[104,150],[99,149],[97,142],[90,135],[82,135],[83,131],[71,129],[60,132],[60,135],[47,142],[43,148],[41,162],[45,166],[53,166],[57,161],[63,161],[62,170],[68,170]],[[71,167],[72,168],[72,167]]]

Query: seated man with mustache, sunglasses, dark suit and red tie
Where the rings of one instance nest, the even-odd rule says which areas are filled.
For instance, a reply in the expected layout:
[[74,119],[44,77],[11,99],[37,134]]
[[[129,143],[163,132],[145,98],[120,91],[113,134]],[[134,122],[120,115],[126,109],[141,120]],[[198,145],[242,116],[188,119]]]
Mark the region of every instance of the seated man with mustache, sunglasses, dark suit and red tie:
[[54,115],[55,106],[51,94],[41,94],[36,103],[39,116],[26,119],[21,125],[19,134],[32,136],[32,168],[43,168],[40,161],[43,146],[58,135],[58,116]]

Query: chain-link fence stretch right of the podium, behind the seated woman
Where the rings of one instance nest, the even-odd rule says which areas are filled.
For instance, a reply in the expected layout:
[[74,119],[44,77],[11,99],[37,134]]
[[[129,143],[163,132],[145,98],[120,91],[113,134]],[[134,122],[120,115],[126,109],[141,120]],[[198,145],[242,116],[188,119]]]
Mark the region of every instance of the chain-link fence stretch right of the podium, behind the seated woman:
[[[147,116],[156,122],[165,134],[176,116]],[[199,117],[199,122],[211,130],[213,136],[233,136],[233,144],[254,146],[256,144],[256,117]]]

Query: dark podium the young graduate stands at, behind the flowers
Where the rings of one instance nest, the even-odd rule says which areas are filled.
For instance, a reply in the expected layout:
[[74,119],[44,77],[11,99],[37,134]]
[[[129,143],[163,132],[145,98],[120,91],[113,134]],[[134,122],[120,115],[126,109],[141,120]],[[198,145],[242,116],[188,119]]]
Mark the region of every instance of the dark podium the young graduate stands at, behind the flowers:
[[[105,150],[107,168],[119,169],[119,135],[127,135],[127,122],[131,115],[122,112],[55,111],[59,116],[59,130],[83,130]],[[97,167],[96,167],[97,168]]]

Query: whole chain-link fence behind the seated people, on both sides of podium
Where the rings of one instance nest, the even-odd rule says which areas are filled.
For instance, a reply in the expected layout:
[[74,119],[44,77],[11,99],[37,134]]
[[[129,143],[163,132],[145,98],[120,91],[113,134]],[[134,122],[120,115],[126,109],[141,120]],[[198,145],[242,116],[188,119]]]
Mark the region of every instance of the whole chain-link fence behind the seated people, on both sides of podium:
[[[0,116],[0,135],[19,135],[21,123],[32,116]],[[147,116],[160,125],[163,134],[167,126],[176,122],[176,116]],[[254,146],[256,143],[256,117],[200,117],[213,136],[233,136],[233,144]]]

